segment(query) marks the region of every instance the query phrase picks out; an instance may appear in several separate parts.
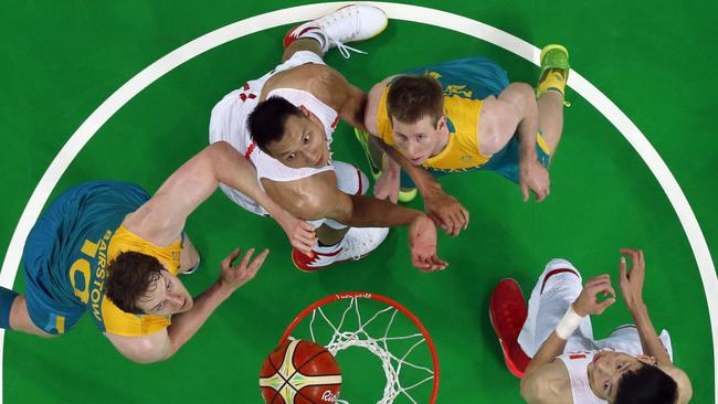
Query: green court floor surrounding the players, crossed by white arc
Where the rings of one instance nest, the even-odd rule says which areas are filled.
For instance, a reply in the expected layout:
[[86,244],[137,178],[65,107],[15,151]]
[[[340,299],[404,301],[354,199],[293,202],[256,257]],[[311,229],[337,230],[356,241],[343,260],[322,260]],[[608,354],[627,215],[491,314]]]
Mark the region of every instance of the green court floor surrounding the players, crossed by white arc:
[[[0,13],[3,255],[53,158],[113,92],[198,36],[305,3],[309,2],[6,1]],[[690,202],[709,248],[716,251],[718,85],[712,75],[718,62],[718,3],[413,3],[481,21],[539,47],[567,45],[572,67],[613,100],[658,151]],[[221,45],[151,84],[97,131],[53,195],[93,179],[131,181],[154,192],[207,145],[212,106],[278,63],[287,28]],[[363,89],[409,67],[471,55],[496,60],[513,81],[534,84],[538,75],[536,66],[496,45],[409,21],[392,20],[384,33],[356,47],[368,55],[345,60],[335,51],[326,61]],[[190,291],[202,291],[235,246],[270,247],[255,280],[221,306],[176,357],[159,364],[123,359],[88,318],[52,340],[8,332],[2,400],[260,403],[260,366],[294,316],[324,296],[368,290],[406,306],[431,332],[442,371],[439,403],[517,403],[518,380],[506,370],[488,320],[488,298],[496,283],[515,277],[528,294],[553,257],[573,262],[584,278],[606,272],[617,275],[619,248],[641,247],[653,321],[671,331],[675,363],[691,378],[694,402],[715,402],[706,294],[676,212],[623,136],[570,89],[568,99],[572,106],[566,109],[546,202],[524,203],[517,185],[492,173],[456,174],[443,181],[472,215],[469,228],[460,237],[440,236],[440,254],[451,264],[447,270],[422,274],[412,268],[406,231],[399,228],[360,262],[300,273],[292,265],[278,225],[242,211],[217,192],[188,222],[203,266],[186,284]],[[367,170],[348,126],[339,126],[332,150],[336,160]],[[20,270],[14,289],[21,291],[23,286]],[[629,321],[619,302],[593,319],[594,332],[604,337]],[[383,389],[379,362],[357,351],[339,360],[346,369],[342,398],[377,402]]]

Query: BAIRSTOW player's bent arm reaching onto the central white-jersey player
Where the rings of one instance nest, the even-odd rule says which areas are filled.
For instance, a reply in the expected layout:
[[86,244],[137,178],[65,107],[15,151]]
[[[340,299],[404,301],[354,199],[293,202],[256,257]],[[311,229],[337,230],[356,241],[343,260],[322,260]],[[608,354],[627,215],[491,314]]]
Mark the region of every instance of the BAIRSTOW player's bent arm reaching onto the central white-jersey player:
[[314,228],[267,196],[256,181],[254,167],[224,141],[208,146],[182,164],[124,224],[149,242],[169,245],[179,237],[190,213],[217,190],[220,182],[264,206],[282,225],[292,245],[307,253],[312,249]]

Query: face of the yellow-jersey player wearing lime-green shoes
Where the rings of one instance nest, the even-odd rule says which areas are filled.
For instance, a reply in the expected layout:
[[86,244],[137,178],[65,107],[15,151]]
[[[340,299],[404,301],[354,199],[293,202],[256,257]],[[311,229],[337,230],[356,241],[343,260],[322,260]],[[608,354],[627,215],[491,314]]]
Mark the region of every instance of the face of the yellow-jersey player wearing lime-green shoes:
[[448,129],[444,116],[436,125],[433,125],[433,119],[429,116],[413,124],[404,124],[393,117],[391,121],[397,148],[414,166],[423,164],[446,147]]

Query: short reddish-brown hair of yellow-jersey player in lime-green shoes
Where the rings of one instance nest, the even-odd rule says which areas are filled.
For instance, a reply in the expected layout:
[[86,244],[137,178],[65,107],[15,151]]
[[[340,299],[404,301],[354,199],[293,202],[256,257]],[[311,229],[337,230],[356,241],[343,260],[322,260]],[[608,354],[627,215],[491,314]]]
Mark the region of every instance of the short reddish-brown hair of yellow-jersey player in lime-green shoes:
[[413,124],[427,116],[436,126],[444,115],[444,91],[430,76],[399,76],[390,84],[387,113],[404,124]]

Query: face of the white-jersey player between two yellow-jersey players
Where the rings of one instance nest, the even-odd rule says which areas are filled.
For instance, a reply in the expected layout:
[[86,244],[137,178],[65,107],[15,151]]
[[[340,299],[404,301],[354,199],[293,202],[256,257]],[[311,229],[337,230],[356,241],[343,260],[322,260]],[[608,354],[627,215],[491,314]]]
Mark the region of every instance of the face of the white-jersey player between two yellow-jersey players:
[[291,168],[321,168],[329,162],[329,145],[324,125],[304,106],[302,116],[291,115],[284,123],[284,135],[267,145],[270,156]]

